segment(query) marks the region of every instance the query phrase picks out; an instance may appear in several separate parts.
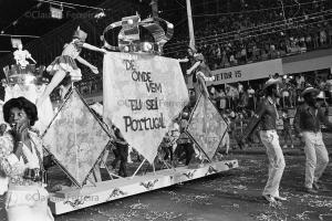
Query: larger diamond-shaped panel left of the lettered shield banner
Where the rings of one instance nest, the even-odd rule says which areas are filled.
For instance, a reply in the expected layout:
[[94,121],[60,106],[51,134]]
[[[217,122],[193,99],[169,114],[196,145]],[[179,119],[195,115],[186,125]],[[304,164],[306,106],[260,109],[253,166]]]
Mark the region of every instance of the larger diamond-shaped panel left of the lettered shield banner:
[[108,140],[75,90],[43,136],[45,148],[81,186]]

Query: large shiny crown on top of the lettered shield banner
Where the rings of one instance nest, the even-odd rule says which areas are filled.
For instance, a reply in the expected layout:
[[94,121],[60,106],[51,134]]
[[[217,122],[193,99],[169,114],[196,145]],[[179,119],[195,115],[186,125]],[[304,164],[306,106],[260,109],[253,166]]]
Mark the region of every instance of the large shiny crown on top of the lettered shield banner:
[[[105,34],[110,31],[115,32],[115,29],[120,27],[122,29],[117,36],[118,45],[112,45],[106,41]],[[144,33],[152,35],[152,38],[143,36]],[[173,23],[164,19],[154,17],[141,21],[139,15],[132,15],[125,17],[122,21],[114,22],[106,27],[102,38],[106,49],[162,55],[163,48],[165,43],[170,40],[173,33]]]

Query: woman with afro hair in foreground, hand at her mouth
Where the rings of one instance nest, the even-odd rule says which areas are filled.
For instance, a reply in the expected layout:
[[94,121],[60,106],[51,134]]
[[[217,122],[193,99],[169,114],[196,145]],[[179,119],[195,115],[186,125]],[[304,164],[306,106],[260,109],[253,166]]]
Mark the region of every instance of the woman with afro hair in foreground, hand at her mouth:
[[3,118],[11,127],[0,137],[0,193],[7,191],[8,220],[53,221],[44,188],[42,140],[31,131],[38,119],[37,107],[24,97],[12,98],[3,105]]

